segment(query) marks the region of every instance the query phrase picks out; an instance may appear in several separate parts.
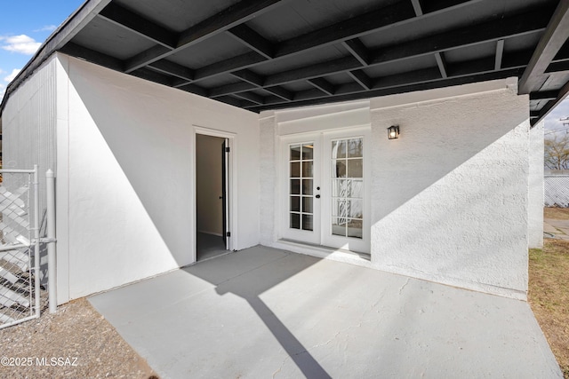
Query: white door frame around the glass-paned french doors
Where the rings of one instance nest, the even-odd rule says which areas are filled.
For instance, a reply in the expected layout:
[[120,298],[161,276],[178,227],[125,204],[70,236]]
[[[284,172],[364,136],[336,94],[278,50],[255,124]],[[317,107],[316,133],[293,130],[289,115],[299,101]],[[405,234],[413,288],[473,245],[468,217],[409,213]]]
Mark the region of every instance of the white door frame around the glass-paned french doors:
[[[286,135],[280,135],[276,137],[276,154],[277,155],[277,179],[276,179],[276,184],[277,184],[277,188],[276,188],[276,217],[275,217],[275,221],[276,221],[276,240],[286,240],[289,239],[289,237],[287,237],[287,235],[285,235],[286,233],[284,233],[284,228],[286,228],[288,226],[288,222],[286,220],[286,217],[284,217],[284,214],[288,214],[288,205],[287,205],[287,201],[289,201],[288,199],[288,192],[285,191],[285,186],[288,183],[288,178],[287,178],[287,174],[288,174],[288,162],[287,162],[287,154],[288,154],[288,149],[287,146],[290,144],[295,144],[295,143],[301,143],[302,141],[306,142],[309,141],[310,139],[315,139],[317,138],[317,144],[320,145],[320,156],[318,157],[319,161],[321,162],[321,168],[319,169],[319,174],[320,174],[320,178],[319,181],[321,182],[320,185],[322,186],[323,190],[320,192],[323,195],[323,198],[321,201],[321,204],[325,203],[325,201],[329,200],[329,193],[327,193],[326,191],[329,191],[329,189],[326,188],[325,186],[325,181],[328,178],[325,178],[325,174],[327,172],[327,170],[325,170],[325,165],[328,164],[328,162],[326,161],[326,157],[328,156],[328,154],[325,154],[325,145],[328,141],[333,140],[333,139],[338,139],[338,138],[349,138],[349,137],[362,137],[364,138],[364,178],[365,178],[365,182],[364,182],[364,209],[371,209],[371,174],[372,174],[372,170],[371,170],[371,164],[372,164],[372,133],[371,133],[371,125],[370,124],[359,124],[359,125],[354,125],[354,126],[350,126],[350,127],[345,127],[345,128],[334,128],[331,130],[317,130],[317,131],[308,131],[308,132],[303,132],[303,133],[294,133],[294,134],[286,134]],[[315,170],[317,170],[315,168]],[[316,180],[316,178],[315,178]],[[325,211],[325,209],[323,209],[325,207],[325,205],[321,205],[321,210],[320,210],[320,230],[319,231],[315,231],[318,233],[318,238],[319,238],[319,243],[316,244],[318,247],[321,248],[332,248],[332,249],[345,249],[344,248],[338,248],[338,245],[336,244],[336,246],[328,246],[325,244],[325,241],[329,241],[330,239],[326,239],[325,238],[325,233],[329,232],[329,228],[325,226],[325,223],[327,222],[327,220],[325,220],[325,216],[328,214],[327,211]],[[370,210],[371,211],[371,210]],[[357,253],[364,253],[364,254],[370,254],[370,246],[371,246],[371,214],[370,211],[368,211],[365,215],[364,215],[364,225],[363,225],[363,229],[362,229],[362,233],[363,233],[363,238],[362,238],[362,245],[363,247],[361,247],[361,249],[357,249],[357,250],[349,250],[349,251],[355,251]],[[334,240],[335,238],[333,237],[332,240]],[[312,243],[309,241],[297,241],[297,240],[293,240],[299,243],[304,243],[307,245],[311,245]],[[349,240],[348,240],[349,241]],[[349,245],[349,243],[345,243],[345,245]]]

